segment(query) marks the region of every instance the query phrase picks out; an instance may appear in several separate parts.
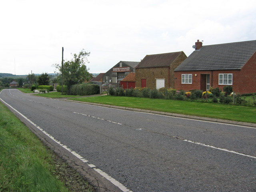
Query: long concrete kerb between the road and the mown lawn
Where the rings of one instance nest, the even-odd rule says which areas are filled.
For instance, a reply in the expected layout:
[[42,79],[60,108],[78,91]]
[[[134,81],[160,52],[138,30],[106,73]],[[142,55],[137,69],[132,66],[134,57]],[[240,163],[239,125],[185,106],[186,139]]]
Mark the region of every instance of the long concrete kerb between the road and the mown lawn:
[[144,112],[144,113],[151,113],[151,114],[157,114],[157,115],[165,115],[165,116],[171,116],[171,117],[177,117],[177,118],[187,118],[187,119],[218,122],[218,123],[226,123],[226,124],[233,124],[233,125],[238,125],[238,126],[248,126],[248,127],[256,128],[255,123],[238,122],[238,121],[231,121],[231,120],[224,120],[224,119],[215,119],[215,118],[208,118],[208,117],[200,117],[200,116],[192,116],[192,115],[161,112],[161,111],[144,110],[144,109],[138,109],[138,108],[122,107],[122,106],[114,106],[114,105],[107,105],[107,104],[82,102],[82,101],[74,101],[74,100],[68,100],[68,99],[64,99],[64,101],[84,103],[84,104],[89,104],[89,105],[96,105],[96,106],[115,108],[115,109],[121,109],[121,110],[129,110],[129,111],[135,111],[135,112]]

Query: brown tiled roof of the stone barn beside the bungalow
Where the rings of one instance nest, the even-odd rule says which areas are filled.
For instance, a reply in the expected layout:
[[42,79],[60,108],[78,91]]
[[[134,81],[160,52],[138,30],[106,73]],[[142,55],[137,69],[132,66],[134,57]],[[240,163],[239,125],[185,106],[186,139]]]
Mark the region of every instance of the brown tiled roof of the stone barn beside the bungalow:
[[136,68],[170,66],[181,53],[182,53],[182,51],[172,52],[172,53],[146,55]]

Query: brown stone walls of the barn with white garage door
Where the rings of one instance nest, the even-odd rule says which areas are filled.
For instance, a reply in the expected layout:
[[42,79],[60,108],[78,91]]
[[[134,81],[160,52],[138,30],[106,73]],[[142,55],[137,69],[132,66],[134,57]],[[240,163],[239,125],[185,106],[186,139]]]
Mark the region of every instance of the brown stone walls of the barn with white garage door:
[[135,68],[135,86],[141,87],[141,79],[146,79],[146,87],[155,89],[156,79],[164,79],[165,88],[174,88],[174,69],[186,58],[186,54],[182,52],[170,67]]

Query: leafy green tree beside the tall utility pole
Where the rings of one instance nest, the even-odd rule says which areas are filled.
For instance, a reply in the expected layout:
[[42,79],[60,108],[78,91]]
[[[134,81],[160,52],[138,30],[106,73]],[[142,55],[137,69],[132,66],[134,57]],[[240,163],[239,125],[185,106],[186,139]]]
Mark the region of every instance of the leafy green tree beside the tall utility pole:
[[[80,51],[79,54],[74,54],[70,61],[63,63],[63,84],[68,86],[83,83],[86,80],[90,80],[92,75],[88,72],[89,68],[86,67],[86,62],[88,62],[88,56],[90,52],[84,50]],[[62,77],[62,65],[54,64],[55,71],[58,74],[59,82],[61,82]]]

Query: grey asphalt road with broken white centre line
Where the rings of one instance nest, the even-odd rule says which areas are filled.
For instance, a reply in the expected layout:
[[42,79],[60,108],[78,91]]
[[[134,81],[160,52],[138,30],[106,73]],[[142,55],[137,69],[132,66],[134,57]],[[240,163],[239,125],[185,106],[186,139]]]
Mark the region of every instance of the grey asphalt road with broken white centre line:
[[133,192],[256,191],[256,128],[3,90],[0,98]]

